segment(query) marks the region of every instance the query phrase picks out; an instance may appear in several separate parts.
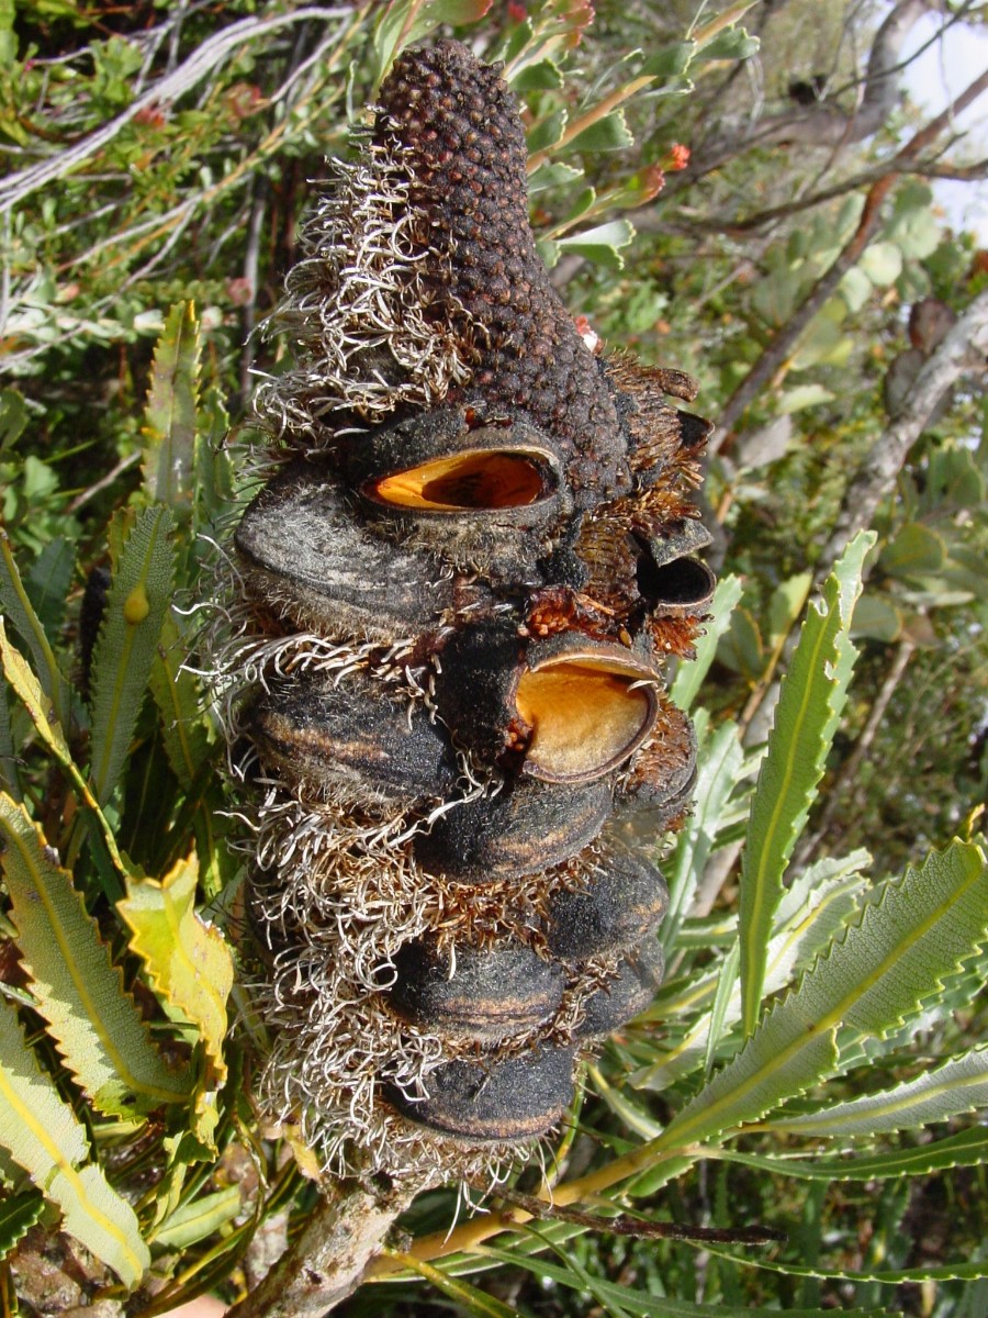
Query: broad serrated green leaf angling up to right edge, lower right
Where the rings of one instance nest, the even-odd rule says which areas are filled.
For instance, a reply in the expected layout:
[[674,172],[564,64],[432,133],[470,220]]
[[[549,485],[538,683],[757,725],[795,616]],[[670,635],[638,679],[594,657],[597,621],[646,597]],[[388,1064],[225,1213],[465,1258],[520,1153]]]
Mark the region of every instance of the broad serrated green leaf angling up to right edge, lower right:
[[653,1141],[661,1152],[755,1122],[838,1072],[862,1039],[884,1037],[942,991],[988,937],[988,870],[954,842],[887,884],[742,1052]]

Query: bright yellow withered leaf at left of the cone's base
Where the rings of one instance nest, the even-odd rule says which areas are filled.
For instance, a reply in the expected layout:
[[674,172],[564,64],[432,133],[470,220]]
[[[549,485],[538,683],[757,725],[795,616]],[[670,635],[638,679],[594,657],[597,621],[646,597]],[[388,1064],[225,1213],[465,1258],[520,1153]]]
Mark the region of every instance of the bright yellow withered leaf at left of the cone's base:
[[227,1075],[223,1043],[233,958],[220,931],[195,913],[198,871],[191,855],[173,866],[161,883],[128,880],[117,911],[133,932],[130,948],[144,961],[162,1003],[198,1028],[211,1064],[211,1085],[219,1087]]

